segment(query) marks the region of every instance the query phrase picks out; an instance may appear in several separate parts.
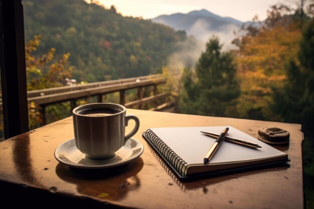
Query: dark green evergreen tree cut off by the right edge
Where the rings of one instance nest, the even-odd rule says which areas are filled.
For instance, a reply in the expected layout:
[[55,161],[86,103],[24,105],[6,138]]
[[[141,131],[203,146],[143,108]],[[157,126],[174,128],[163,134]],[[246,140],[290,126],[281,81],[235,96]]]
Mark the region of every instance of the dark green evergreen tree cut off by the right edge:
[[299,62],[289,61],[284,87],[275,89],[274,111],[288,122],[314,124],[314,20],[303,31],[299,47]]

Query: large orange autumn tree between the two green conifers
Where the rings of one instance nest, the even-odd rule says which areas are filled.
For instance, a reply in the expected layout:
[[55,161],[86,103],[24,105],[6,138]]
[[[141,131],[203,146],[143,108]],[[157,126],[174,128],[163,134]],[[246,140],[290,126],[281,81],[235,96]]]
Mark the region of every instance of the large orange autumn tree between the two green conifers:
[[301,30],[297,24],[261,27],[244,36],[235,52],[241,96],[240,117],[280,120],[270,110],[272,88],[280,88],[286,78],[285,64],[296,61]]

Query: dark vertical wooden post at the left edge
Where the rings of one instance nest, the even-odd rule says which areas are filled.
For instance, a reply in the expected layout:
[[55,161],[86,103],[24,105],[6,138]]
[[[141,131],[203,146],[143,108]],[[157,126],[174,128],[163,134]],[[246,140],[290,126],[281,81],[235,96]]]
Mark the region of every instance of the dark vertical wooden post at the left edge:
[[0,68],[7,139],[29,130],[22,0],[0,0]]

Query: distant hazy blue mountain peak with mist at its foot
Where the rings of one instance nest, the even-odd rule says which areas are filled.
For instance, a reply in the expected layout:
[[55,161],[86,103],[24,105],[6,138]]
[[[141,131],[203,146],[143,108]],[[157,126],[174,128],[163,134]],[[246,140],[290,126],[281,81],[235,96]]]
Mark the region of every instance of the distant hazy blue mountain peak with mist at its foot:
[[151,21],[170,26],[175,30],[183,30],[204,42],[207,42],[212,35],[217,35],[221,42],[228,46],[231,46],[231,41],[235,38],[234,31],[238,31],[244,24],[230,17],[220,17],[205,9],[187,14],[161,15]]

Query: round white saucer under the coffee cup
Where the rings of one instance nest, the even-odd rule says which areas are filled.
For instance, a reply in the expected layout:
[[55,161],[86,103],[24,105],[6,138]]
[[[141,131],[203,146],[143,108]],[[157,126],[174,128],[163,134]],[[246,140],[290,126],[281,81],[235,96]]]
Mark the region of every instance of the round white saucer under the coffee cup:
[[74,139],[71,139],[57,147],[55,157],[59,162],[71,167],[85,169],[109,168],[123,165],[136,159],[143,153],[143,150],[144,147],[139,141],[129,139],[124,146],[116,151],[113,157],[104,160],[92,160],[78,150],[75,146]]

